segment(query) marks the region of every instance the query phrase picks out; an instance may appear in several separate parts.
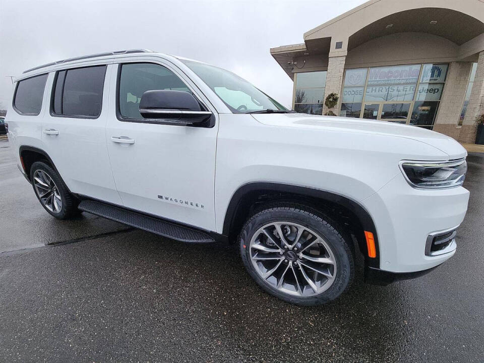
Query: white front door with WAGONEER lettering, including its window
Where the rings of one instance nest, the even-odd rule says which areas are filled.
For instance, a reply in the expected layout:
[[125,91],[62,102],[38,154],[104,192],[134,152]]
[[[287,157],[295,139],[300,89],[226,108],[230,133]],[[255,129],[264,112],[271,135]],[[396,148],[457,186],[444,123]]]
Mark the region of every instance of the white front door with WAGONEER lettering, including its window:
[[203,128],[143,118],[139,103],[145,91],[194,93],[195,87],[169,63],[125,63],[117,68],[111,76],[110,103],[115,107],[109,110],[106,142],[124,206],[215,230],[218,122]]

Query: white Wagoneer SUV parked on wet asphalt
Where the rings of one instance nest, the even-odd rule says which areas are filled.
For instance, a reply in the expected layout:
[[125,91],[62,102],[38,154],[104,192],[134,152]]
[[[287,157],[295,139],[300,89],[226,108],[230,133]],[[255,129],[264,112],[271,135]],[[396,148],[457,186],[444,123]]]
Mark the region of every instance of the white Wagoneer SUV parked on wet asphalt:
[[295,113],[231,72],[147,50],[24,72],[7,115],[42,206],[186,243],[236,241],[267,292],[299,305],[455,253],[466,151],[450,137]]

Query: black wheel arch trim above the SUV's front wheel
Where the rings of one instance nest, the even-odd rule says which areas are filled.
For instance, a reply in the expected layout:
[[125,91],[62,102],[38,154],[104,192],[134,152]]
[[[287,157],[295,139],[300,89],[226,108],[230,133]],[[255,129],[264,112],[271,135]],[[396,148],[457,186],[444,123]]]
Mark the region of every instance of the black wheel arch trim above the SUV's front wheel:
[[[250,213],[258,205],[274,201],[291,201],[308,205],[322,212],[327,212],[328,210],[336,212],[336,216],[331,214],[329,217],[335,218],[343,224],[348,224],[351,231],[354,232],[359,250],[364,255],[366,264],[380,268],[379,240],[375,223],[370,213],[365,207],[348,197],[314,188],[269,182],[256,182],[241,186],[232,195],[228,204],[222,233],[233,239]],[[368,257],[364,231],[372,232],[374,235],[377,251],[376,258]]]

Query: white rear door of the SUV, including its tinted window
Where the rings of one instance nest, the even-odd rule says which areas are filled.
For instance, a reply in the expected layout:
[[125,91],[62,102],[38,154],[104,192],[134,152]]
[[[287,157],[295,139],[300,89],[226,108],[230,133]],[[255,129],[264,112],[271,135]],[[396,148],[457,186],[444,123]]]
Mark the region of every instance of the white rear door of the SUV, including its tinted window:
[[107,154],[109,68],[98,64],[50,74],[50,112],[42,144],[69,189],[121,204]]

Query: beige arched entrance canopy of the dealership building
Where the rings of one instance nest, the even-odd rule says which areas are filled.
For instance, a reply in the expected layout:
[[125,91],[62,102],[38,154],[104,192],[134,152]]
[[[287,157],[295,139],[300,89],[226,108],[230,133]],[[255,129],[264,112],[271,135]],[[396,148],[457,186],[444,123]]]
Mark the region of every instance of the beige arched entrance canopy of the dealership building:
[[484,1],[370,0],[309,30],[304,43],[272,48],[271,54],[292,77],[292,62],[306,59],[305,68],[316,70],[327,66],[328,57],[346,56],[362,44],[398,34],[443,38],[455,44],[447,45],[452,51],[446,62],[475,62],[484,50]]

